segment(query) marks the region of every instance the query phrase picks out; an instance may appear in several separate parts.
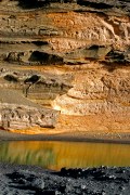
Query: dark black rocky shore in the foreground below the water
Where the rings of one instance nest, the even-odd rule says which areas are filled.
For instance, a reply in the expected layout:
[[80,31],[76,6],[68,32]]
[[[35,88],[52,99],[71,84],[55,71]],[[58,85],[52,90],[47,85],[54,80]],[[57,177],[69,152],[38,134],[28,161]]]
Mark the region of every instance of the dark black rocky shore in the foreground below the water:
[[119,195],[130,192],[129,167],[44,170],[36,166],[0,164],[0,194]]

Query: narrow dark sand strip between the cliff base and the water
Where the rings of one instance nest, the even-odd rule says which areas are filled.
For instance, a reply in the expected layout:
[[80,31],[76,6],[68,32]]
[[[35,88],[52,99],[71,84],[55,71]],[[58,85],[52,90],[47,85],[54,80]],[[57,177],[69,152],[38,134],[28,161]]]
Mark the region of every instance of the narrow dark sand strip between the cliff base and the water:
[[110,135],[100,133],[58,133],[58,134],[21,134],[10,131],[0,131],[0,141],[60,141],[60,142],[94,142],[94,143],[115,143],[130,144],[130,134],[117,133]]

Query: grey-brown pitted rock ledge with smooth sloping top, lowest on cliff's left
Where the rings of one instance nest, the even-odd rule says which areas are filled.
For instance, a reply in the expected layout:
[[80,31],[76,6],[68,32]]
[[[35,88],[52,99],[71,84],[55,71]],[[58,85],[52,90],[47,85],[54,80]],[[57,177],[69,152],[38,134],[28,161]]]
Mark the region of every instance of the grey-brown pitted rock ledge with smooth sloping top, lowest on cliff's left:
[[55,126],[57,112],[41,108],[13,90],[1,89],[0,127],[5,130]]

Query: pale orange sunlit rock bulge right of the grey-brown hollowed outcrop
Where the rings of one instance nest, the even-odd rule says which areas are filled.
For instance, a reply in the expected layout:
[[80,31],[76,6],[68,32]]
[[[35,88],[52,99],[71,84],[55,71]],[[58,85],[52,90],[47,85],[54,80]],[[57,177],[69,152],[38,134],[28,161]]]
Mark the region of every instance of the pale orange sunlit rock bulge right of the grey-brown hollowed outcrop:
[[54,108],[69,115],[129,115],[129,70],[80,70],[76,74],[74,88],[57,96]]

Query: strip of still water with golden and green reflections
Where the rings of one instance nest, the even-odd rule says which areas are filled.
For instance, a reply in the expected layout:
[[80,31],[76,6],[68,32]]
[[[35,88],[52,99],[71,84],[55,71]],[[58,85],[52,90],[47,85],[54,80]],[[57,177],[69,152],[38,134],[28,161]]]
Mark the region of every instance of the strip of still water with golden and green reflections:
[[54,141],[1,142],[0,160],[54,170],[62,167],[130,166],[130,145]]

